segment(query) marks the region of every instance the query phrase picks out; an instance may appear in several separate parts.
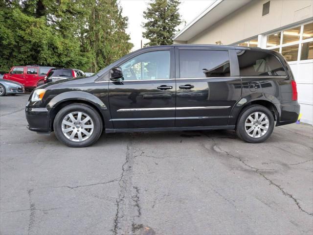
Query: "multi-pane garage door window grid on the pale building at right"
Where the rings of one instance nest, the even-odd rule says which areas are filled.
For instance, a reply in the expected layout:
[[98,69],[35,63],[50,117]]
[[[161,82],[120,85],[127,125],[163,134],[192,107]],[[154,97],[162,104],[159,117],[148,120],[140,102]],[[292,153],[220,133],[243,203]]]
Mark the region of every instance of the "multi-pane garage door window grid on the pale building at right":
[[267,48],[289,62],[313,59],[313,23],[301,24],[267,36]]

